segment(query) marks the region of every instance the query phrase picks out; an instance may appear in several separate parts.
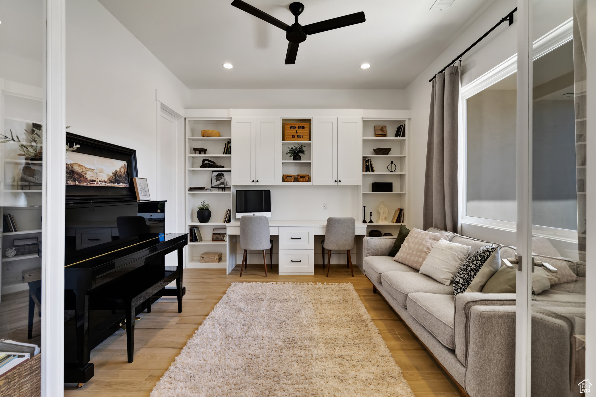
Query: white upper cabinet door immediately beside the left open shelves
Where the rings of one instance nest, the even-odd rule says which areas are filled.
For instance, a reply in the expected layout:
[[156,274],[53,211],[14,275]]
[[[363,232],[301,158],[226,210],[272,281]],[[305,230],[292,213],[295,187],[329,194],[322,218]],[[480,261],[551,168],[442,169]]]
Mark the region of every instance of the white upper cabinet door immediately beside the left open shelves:
[[256,119],[232,117],[231,137],[232,185],[253,185],[255,183]]

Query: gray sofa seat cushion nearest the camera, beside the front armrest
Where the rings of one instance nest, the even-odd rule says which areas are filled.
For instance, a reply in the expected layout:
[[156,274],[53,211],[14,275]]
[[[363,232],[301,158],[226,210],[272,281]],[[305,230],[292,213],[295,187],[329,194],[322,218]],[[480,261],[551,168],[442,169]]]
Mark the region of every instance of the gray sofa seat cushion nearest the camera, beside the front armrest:
[[412,292],[408,313],[449,349],[455,349],[455,296]]

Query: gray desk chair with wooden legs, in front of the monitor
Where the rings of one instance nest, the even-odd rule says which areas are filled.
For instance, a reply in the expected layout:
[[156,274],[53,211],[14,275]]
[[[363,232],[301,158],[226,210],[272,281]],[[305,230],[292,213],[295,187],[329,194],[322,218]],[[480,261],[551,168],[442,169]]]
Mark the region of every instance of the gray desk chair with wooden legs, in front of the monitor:
[[269,220],[262,215],[244,215],[240,218],[240,248],[244,250],[242,265],[240,265],[240,277],[246,268],[246,254],[248,250],[261,250],[263,252],[263,264],[265,265],[265,277],[267,277],[267,260],[265,250],[270,249],[271,268],[273,268],[273,240],[269,235]]

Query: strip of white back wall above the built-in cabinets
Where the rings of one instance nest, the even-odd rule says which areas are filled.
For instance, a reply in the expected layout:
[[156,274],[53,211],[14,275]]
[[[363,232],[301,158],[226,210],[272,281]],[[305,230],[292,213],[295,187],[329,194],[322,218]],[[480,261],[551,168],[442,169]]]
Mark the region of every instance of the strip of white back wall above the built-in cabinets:
[[403,89],[191,89],[188,108],[405,109]]

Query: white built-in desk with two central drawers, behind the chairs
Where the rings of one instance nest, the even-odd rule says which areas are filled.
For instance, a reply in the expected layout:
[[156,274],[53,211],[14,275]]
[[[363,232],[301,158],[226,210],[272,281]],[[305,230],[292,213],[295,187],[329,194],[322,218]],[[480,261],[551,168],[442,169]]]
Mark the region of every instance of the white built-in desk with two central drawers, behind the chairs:
[[[279,236],[280,274],[315,272],[315,235],[325,235],[327,221],[269,221],[269,234]],[[240,222],[226,225],[228,234],[228,272],[237,263]],[[355,234],[365,236],[367,224],[355,222]]]

